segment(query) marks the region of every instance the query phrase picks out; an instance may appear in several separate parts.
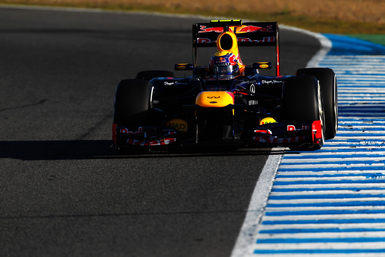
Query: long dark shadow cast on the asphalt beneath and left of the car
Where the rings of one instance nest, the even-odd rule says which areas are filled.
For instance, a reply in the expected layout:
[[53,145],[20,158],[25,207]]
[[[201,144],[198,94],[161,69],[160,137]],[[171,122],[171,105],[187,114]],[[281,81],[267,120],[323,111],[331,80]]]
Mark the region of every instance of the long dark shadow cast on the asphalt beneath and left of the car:
[[282,154],[271,148],[179,147],[167,151],[118,154],[110,149],[111,140],[0,141],[0,158],[20,160],[130,159],[200,156],[256,156]]

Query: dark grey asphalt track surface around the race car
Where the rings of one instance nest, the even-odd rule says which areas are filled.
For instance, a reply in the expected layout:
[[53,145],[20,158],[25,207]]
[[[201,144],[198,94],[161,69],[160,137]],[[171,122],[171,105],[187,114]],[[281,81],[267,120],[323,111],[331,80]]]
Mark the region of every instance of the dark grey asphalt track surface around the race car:
[[[231,254],[280,152],[109,150],[117,83],[191,62],[191,24],[206,20],[0,7],[1,256]],[[281,29],[280,46],[281,74],[294,74],[320,44]]]

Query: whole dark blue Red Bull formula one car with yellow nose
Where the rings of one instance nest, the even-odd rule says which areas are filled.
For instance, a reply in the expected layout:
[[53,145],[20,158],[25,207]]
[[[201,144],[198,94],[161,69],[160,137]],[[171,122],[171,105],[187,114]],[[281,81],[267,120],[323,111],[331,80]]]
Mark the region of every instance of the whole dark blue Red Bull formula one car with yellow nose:
[[[337,130],[333,70],[298,69],[280,76],[277,22],[212,20],[196,23],[193,63],[170,71],[142,71],[116,88],[113,147],[167,149],[172,145],[241,144],[320,149]],[[209,66],[198,66],[198,48],[216,46]],[[275,46],[276,76],[262,76],[270,62],[244,65],[238,46]]]

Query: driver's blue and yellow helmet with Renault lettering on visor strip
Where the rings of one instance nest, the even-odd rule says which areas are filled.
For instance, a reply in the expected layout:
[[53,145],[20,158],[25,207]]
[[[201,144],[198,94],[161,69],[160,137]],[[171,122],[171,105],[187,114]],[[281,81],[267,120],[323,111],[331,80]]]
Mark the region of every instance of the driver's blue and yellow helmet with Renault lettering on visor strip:
[[218,75],[238,75],[239,65],[238,60],[232,52],[219,51],[216,52],[210,59],[210,72]]

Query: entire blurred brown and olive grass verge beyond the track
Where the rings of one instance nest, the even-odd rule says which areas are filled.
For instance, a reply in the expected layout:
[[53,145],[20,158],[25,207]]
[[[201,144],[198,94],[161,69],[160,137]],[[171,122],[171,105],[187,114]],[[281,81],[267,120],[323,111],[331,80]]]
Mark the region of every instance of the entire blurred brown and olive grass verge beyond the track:
[[317,32],[360,33],[361,28],[355,27],[362,26],[364,33],[385,34],[385,0],[0,0],[0,3],[223,14],[226,17],[234,14],[238,18],[275,20]]

